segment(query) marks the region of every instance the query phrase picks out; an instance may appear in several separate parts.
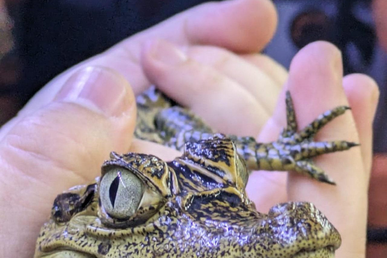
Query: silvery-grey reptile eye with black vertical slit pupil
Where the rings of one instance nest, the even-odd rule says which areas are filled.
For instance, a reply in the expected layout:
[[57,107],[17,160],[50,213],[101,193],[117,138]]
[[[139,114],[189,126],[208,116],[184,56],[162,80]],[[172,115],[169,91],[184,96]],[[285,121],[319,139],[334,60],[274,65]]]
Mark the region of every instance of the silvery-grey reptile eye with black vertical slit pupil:
[[124,219],[133,216],[144,195],[144,185],[131,171],[110,169],[101,180],[101,205],[109,216]]

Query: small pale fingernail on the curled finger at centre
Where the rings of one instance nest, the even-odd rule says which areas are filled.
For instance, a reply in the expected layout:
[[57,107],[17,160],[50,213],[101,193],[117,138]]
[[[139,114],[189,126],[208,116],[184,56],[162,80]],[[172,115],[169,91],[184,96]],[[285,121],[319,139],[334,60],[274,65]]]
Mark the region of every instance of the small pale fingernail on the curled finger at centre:
[[177,66],[187,60],[186,55],[180,49],[164,40],[149,42],[145,47],[154,59],[168,66]]

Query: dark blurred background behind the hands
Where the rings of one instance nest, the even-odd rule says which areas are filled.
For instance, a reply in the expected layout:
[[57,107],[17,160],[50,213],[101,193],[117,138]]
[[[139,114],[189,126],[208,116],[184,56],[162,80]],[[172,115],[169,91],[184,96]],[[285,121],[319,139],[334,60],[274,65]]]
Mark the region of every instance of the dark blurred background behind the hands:
[[[0,124],[13,117],[60,72],[203,2],[206,1],[0,0]],[[379,85],[367,257],[387,257],[387,19],[383,18],[387,17],[387,1],[273,2],[279,25],[266,54],[289,67],[300,48],[315,40],[328,40],[342,50],[346,74],[365,73]]]

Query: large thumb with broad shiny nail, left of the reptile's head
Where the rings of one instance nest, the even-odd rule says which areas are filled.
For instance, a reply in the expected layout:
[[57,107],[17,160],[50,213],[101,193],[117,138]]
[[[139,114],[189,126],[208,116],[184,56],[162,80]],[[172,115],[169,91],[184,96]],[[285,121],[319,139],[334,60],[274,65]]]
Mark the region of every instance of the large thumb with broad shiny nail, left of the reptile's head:
[[110,151],[126,151],[135,117],[127,82],[88,68],[71,77],[52,103],[12,128],[0,143],[0,188],[8,193],[0,198],[0,215],[10,225],[0,232],[10,243],[4,257],[31,256],[54,197],[99,175]]

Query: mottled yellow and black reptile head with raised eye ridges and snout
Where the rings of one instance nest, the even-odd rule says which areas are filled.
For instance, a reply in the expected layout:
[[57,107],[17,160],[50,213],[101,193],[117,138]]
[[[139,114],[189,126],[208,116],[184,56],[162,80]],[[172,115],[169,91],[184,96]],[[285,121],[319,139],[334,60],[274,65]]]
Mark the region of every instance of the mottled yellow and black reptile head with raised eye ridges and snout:
[[341,238],[310,203],[256,211],[232,141],[187,143],[171,162],[111,154],[101,177],[59,195],[35,257],[334,257]]

